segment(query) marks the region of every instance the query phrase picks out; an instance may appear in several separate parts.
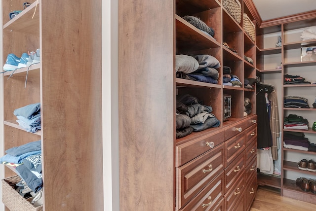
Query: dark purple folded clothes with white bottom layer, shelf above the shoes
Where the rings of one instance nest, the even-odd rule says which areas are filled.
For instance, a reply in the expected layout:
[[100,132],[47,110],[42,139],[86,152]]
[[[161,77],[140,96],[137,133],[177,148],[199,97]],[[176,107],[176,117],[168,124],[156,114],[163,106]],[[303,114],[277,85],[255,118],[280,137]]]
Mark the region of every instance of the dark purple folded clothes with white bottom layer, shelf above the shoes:
[[283,146],[289,149],[308,151],[310,146],[310,141],[305,137],[304,133],[284,131],[283,141]]

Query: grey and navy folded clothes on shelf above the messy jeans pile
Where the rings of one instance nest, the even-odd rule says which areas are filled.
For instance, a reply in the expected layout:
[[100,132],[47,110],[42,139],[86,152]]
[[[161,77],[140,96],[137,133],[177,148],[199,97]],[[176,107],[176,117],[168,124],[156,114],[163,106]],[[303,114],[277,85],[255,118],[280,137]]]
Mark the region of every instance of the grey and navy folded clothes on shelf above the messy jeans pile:
[[176,55],[176,77],[196,80],[206,83],[218,84],[220,62],[213,56],[202,55]]

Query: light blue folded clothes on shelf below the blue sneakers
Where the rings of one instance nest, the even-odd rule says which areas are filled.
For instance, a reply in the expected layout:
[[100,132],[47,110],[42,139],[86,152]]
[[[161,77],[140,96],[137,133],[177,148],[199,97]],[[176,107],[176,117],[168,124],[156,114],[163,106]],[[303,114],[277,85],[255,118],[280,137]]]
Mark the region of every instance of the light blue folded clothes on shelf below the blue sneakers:
[[40,103],[30,104],[14,110],[19,125],[27,132],[40,130]]

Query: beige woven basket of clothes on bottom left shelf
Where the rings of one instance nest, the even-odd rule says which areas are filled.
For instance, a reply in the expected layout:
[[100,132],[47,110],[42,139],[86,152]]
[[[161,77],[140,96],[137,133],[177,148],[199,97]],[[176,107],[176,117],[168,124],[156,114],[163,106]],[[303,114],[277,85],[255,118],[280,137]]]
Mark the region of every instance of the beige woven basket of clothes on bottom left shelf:
[[21,180],[19,176],[11,176],[2,179],[2,202],[10,211],[42,211],[43,206],[34,207],[24,199],[11,185]]

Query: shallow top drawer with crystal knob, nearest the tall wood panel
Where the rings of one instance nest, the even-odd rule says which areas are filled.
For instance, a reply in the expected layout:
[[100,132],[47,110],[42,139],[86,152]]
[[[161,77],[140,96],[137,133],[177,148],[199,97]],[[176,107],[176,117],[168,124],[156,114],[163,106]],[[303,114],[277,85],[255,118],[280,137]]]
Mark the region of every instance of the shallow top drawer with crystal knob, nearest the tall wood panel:
[[176,146],[176,167],[180,167],[199,155],[215,148],[224,142],[224,139],[225,131],[218,130]]

